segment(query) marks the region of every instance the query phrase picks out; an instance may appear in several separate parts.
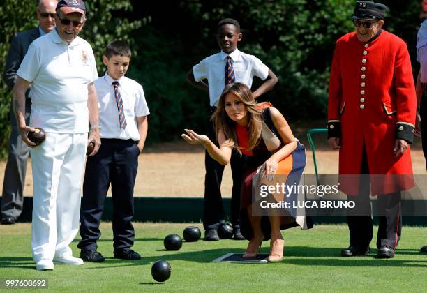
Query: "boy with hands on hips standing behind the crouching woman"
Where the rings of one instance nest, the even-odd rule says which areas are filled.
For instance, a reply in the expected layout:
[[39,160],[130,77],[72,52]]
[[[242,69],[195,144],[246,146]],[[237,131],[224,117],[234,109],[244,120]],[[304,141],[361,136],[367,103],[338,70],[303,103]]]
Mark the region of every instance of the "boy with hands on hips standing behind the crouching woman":
[[[216,36],[221,51],[200,61],[187,74],[187,80],[190,84],[209,91],[209,112],[211,114],[216,110],[218,99],[225,84],[241,82],[250,88],[253,77],[260,77],[265,82],[253,92],[253,96],[257,98],[272,89],[277,82],[276,75],[260,59],[237,49],[237,43],[241,41],[241,38],[240,24],[237,20],[231,18],[221,20],[218,23]],[[203,80],[207,80],[208,83]],[[211,140],[216,141],[210,117],[207,121],[207,135]],[[233,237],[237,240],[244,239],[239,225],[241,164],[239,153],[234,151],[231,158],[233,176],[231,216]],[[204,179],[204,240],[217,241],[219,236],[216,230],[224,222],[225,217],[220,190],[224,166],[213,160],[209,153],[205,153],[204,167],[206,170]]]

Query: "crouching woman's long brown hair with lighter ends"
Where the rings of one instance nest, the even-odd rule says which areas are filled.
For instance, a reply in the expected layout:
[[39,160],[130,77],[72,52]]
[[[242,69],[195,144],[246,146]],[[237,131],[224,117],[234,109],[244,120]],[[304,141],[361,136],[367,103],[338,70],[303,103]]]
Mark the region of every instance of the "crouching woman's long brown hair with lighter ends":
[[240,82],[235,82],[234,84],[227,84],[223,93],[218,101],[218,107],[216,111],[212,115],[213,127],[215,128],[216,137],[218,137],[218,132],[220,129],[223,130],[225,135],[226,145],[228,147],[234,147],[241,153],[241,147],[239,147],[239,142],[237,140],[236,135],[236,122],[234,122],[230,117],[228,117],[227,112],[225,112],[225,96],[228,93],[234,93],[242,103],[244,103],[246,110],[248,125],[246,128],[248,129],[248,150],[253,149],[258,140],[261,137],[261,129],[262,129],[262,117],[260,110],[257,110],[257,103],[255,102],[255,98],[252,96],[252,92],[246,86],[246,84],[242,84]]

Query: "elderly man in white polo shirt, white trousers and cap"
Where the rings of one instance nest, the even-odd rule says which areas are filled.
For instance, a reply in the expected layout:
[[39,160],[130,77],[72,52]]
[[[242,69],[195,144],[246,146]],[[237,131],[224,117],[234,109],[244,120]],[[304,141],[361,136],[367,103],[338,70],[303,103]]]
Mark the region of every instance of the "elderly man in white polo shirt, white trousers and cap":
[[[14,110],[22,140],[31,147],[33,223],[31,249],[38,270],[54,269],[53,261],[80,265],[69,244],[80,215],[84,156],[88,142],[100,146],[98,78],[91,45],[77,35],[86,20],[81,0],[61,0],[57,27],[31,43],[13,89]],[[25,90],[31,84],[30,126],[25,123]],[[89,140],[88,120],[91,123]],[[36,146],[27,137],[43,128],[46,140]]]

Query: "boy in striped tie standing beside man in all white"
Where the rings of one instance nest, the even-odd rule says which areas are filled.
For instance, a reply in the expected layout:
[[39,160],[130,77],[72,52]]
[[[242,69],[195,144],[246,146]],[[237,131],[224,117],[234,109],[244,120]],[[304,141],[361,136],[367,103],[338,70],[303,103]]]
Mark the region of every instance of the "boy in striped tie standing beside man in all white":
[[107,72],[95,81],[99,96],[100,137],[103,146],[89,156],[83,182],[80,256],[87,262],[103,262],[96,241],[107,190],[112,185],[114,257],[140,260],[131,250],[135,232],[133,188],[138,156],[147,137],[149,110],[140,84],[125,77],[130,63],[130,48],[121,40],[107,45],[103,62]]

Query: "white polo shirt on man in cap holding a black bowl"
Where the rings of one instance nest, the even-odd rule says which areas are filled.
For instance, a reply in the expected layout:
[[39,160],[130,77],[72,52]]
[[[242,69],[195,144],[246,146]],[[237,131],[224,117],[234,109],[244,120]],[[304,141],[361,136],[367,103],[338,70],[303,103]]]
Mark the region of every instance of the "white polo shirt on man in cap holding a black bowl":
[[53,29],[31,43],[17,75],[31,82],[30,125],[52,133],[87,133],[89,83],[98,78],[91,45],[68,45]]

